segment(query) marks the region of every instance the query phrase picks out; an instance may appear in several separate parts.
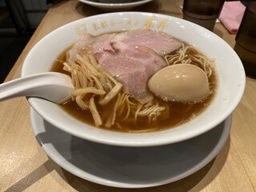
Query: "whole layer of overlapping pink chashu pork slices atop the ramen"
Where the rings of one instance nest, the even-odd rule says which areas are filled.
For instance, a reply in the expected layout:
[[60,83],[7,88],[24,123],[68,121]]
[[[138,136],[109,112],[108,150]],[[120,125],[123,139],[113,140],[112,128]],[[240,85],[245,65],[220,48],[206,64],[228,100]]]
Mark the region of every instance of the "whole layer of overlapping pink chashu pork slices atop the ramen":
[[142,104],[153,98],[147,89],[149,78],[166,66],[162,56],[178,50],[182,42],[164,32],[148,29],[118,34],[82,35],[67,52],[76,61],[76,54],[91,52],[98,64],[122,83],[123,90]]

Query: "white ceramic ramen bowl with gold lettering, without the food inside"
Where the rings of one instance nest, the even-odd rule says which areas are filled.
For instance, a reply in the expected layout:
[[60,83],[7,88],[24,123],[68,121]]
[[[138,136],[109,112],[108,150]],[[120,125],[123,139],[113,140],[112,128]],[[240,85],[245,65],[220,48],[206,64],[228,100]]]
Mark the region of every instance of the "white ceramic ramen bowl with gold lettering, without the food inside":
[[82,18],[54,30],[42,38],[27,55],[22,77],[49,71],[54,59],[79,34],[102,34],[111,31],[150,27],[196,46],[208,58],[216,59],[218,93],[210,106],[192,121],[169,130],[144,134],[118,133],[88,126],[67,114],[58,105],[41,98],[28,98],[30,105],[54,126],[79,138],[114,146],[158,146],[181,142],[203,134],[224,121],[235,109],[245,89],[246,76],[234,50],[216,34],[191,22],[162,14],[123,12]]

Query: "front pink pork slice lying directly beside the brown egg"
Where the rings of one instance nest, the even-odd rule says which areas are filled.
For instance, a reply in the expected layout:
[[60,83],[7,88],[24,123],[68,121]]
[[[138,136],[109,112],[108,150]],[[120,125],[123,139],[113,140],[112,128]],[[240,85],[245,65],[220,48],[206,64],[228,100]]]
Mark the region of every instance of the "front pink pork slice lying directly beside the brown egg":
[[95,54],[95,58],[104,70],[122,83],[126,94],[130,94],[142,104],[150,102],[153,98],[147,89],[148,79],[166,66],[161,56],[145,46],[114,54],[104,51]]

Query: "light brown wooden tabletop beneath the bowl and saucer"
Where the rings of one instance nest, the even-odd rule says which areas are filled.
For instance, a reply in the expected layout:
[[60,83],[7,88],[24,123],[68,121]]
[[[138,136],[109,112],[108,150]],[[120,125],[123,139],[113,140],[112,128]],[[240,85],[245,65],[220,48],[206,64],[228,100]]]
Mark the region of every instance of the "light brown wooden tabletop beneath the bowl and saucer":
[[[134,10],[182,18],[180,6],[180,0],[155,0]],[[39,39],[68,22],[102,13],[105,11],[78,1],[55,2],[10,71],[6,82],[20,77],[22,62]],[[229,34],[221,23],[216,24],[214,33],[234,46],[235,35]],[[0,102],[0,190],[256,191],[255,98],[256,80],[246,78],[245,94],[233,113],[230,137],[217,157],[202,170],[178,182],[137,190],[101,186],[63,170],[38,145],[30,125],[30,105],[26,98]]]

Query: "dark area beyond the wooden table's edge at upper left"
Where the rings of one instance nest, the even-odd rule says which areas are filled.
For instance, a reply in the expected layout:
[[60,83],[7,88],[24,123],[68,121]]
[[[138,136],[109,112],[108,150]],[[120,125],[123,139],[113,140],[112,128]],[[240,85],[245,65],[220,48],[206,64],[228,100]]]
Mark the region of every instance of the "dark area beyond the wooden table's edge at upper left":
[[0,0],[0,83],[5,80],[50,8],[51,4],[48,2]]

